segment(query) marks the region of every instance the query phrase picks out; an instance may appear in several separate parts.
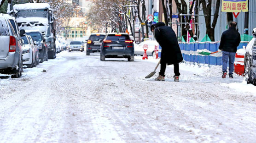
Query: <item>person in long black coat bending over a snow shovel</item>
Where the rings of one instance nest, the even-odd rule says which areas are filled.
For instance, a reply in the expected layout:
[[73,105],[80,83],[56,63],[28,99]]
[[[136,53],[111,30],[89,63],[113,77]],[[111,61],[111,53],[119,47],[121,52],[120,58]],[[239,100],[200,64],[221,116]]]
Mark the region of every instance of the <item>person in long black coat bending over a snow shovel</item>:
[[154,32],[157,42],[162,47],[161,69],[155,80],[164,81],[166,65],[174,65],[174,81],[179,82],[179,63],[183,60],[183,57],[175,32],[171,27],[165,26],[163,22],[153,24],[151,26],[151,32]]

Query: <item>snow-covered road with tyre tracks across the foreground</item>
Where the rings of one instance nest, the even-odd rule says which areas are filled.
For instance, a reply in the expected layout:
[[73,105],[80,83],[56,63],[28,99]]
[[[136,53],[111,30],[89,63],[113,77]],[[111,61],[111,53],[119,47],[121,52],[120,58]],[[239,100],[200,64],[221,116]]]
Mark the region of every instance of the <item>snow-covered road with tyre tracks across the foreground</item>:
[[180,82],[172,66],[157,82],[144,78],[157,60],[140,59],[64,51],[21,78],[0,75],[0,142],[255,142],[255,86],[185,63]]

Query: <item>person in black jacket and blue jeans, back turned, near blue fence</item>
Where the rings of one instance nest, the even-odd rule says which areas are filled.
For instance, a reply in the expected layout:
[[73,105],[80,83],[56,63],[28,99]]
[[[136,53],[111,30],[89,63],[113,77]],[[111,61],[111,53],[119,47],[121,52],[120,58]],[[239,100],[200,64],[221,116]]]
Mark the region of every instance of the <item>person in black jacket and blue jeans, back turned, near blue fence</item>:
[[221,43],[218,51],[222,51],[222,78],[227,76],[227,60],[229,69],[229,78],[233,78],[234,60],[237,47],[241,42],[239,32],[236,31],[237,22],[231,22],[228,30],[224,31],[221,35]]

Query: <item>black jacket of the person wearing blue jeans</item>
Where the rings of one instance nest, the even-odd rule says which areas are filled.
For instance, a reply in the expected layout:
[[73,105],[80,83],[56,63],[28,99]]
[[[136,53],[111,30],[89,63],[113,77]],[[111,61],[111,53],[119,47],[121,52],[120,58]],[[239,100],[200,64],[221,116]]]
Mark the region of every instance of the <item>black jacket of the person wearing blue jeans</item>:
[[222,49],[226,52],[236,52],[240,42],[241,37],[240,34],[236,31],[236,28],[229,27],[229,29],[224,31],[221,35],[221,44],[219,49]]

